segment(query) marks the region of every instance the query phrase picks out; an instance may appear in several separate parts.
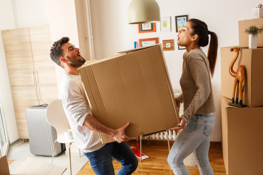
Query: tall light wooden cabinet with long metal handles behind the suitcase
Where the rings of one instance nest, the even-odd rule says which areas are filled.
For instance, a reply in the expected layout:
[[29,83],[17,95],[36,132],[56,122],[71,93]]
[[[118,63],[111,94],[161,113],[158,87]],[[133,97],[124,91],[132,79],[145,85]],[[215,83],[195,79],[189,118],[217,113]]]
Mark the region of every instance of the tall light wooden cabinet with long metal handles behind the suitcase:
[[19,137],[28,139],[25,111],[58,99],[49,25],[2,31]]

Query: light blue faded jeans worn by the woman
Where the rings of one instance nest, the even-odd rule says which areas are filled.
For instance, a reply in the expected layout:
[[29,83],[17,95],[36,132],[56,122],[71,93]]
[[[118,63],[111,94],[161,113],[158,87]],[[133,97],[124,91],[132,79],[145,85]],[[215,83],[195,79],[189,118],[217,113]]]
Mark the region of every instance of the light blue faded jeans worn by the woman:
[[193,153],[195,163],[201,175],[213,175],[214,171],[208,159],[210,146],[209,135],[213,132],[216,122],[214,113],[196,114],[188,121],[174,141],[167,161],[177,175],[190,175],[184,165],[184,159]]

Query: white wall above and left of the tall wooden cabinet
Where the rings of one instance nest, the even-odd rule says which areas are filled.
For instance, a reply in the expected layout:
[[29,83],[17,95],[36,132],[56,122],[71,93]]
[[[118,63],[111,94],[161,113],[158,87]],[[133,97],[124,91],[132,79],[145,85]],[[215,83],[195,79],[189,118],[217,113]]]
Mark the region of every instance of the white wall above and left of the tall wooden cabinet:
[[[0,16],[0,30],[49,24],[46,1],[41,0],[1,1]],[[5,113],[9,140],[12,143],[19,138],[19,135],[15,119],[2,34],[0,36],[0,75],[0,100]]]

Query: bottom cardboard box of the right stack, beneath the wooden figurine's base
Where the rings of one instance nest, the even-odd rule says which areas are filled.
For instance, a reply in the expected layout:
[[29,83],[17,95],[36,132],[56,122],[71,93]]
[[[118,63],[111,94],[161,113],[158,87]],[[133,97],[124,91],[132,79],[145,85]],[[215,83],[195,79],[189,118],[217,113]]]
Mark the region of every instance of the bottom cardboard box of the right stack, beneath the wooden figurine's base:
[[263,107],[238,108],[221,96],[222,152],[227,175],[261,175]]

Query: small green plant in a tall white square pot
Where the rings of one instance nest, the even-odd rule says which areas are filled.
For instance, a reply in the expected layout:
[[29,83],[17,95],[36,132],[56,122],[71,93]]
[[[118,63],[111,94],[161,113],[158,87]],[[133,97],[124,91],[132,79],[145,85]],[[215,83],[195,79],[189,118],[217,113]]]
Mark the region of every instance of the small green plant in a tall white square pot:
[[249,34],[248,36],[248,48],[254,49],[257,48],[257,38],[258,34],[261,34],[263,29],[261,27],[257,27],[254,25],[250,25],[250,27],[247,27],[245,29],[245,33]]

